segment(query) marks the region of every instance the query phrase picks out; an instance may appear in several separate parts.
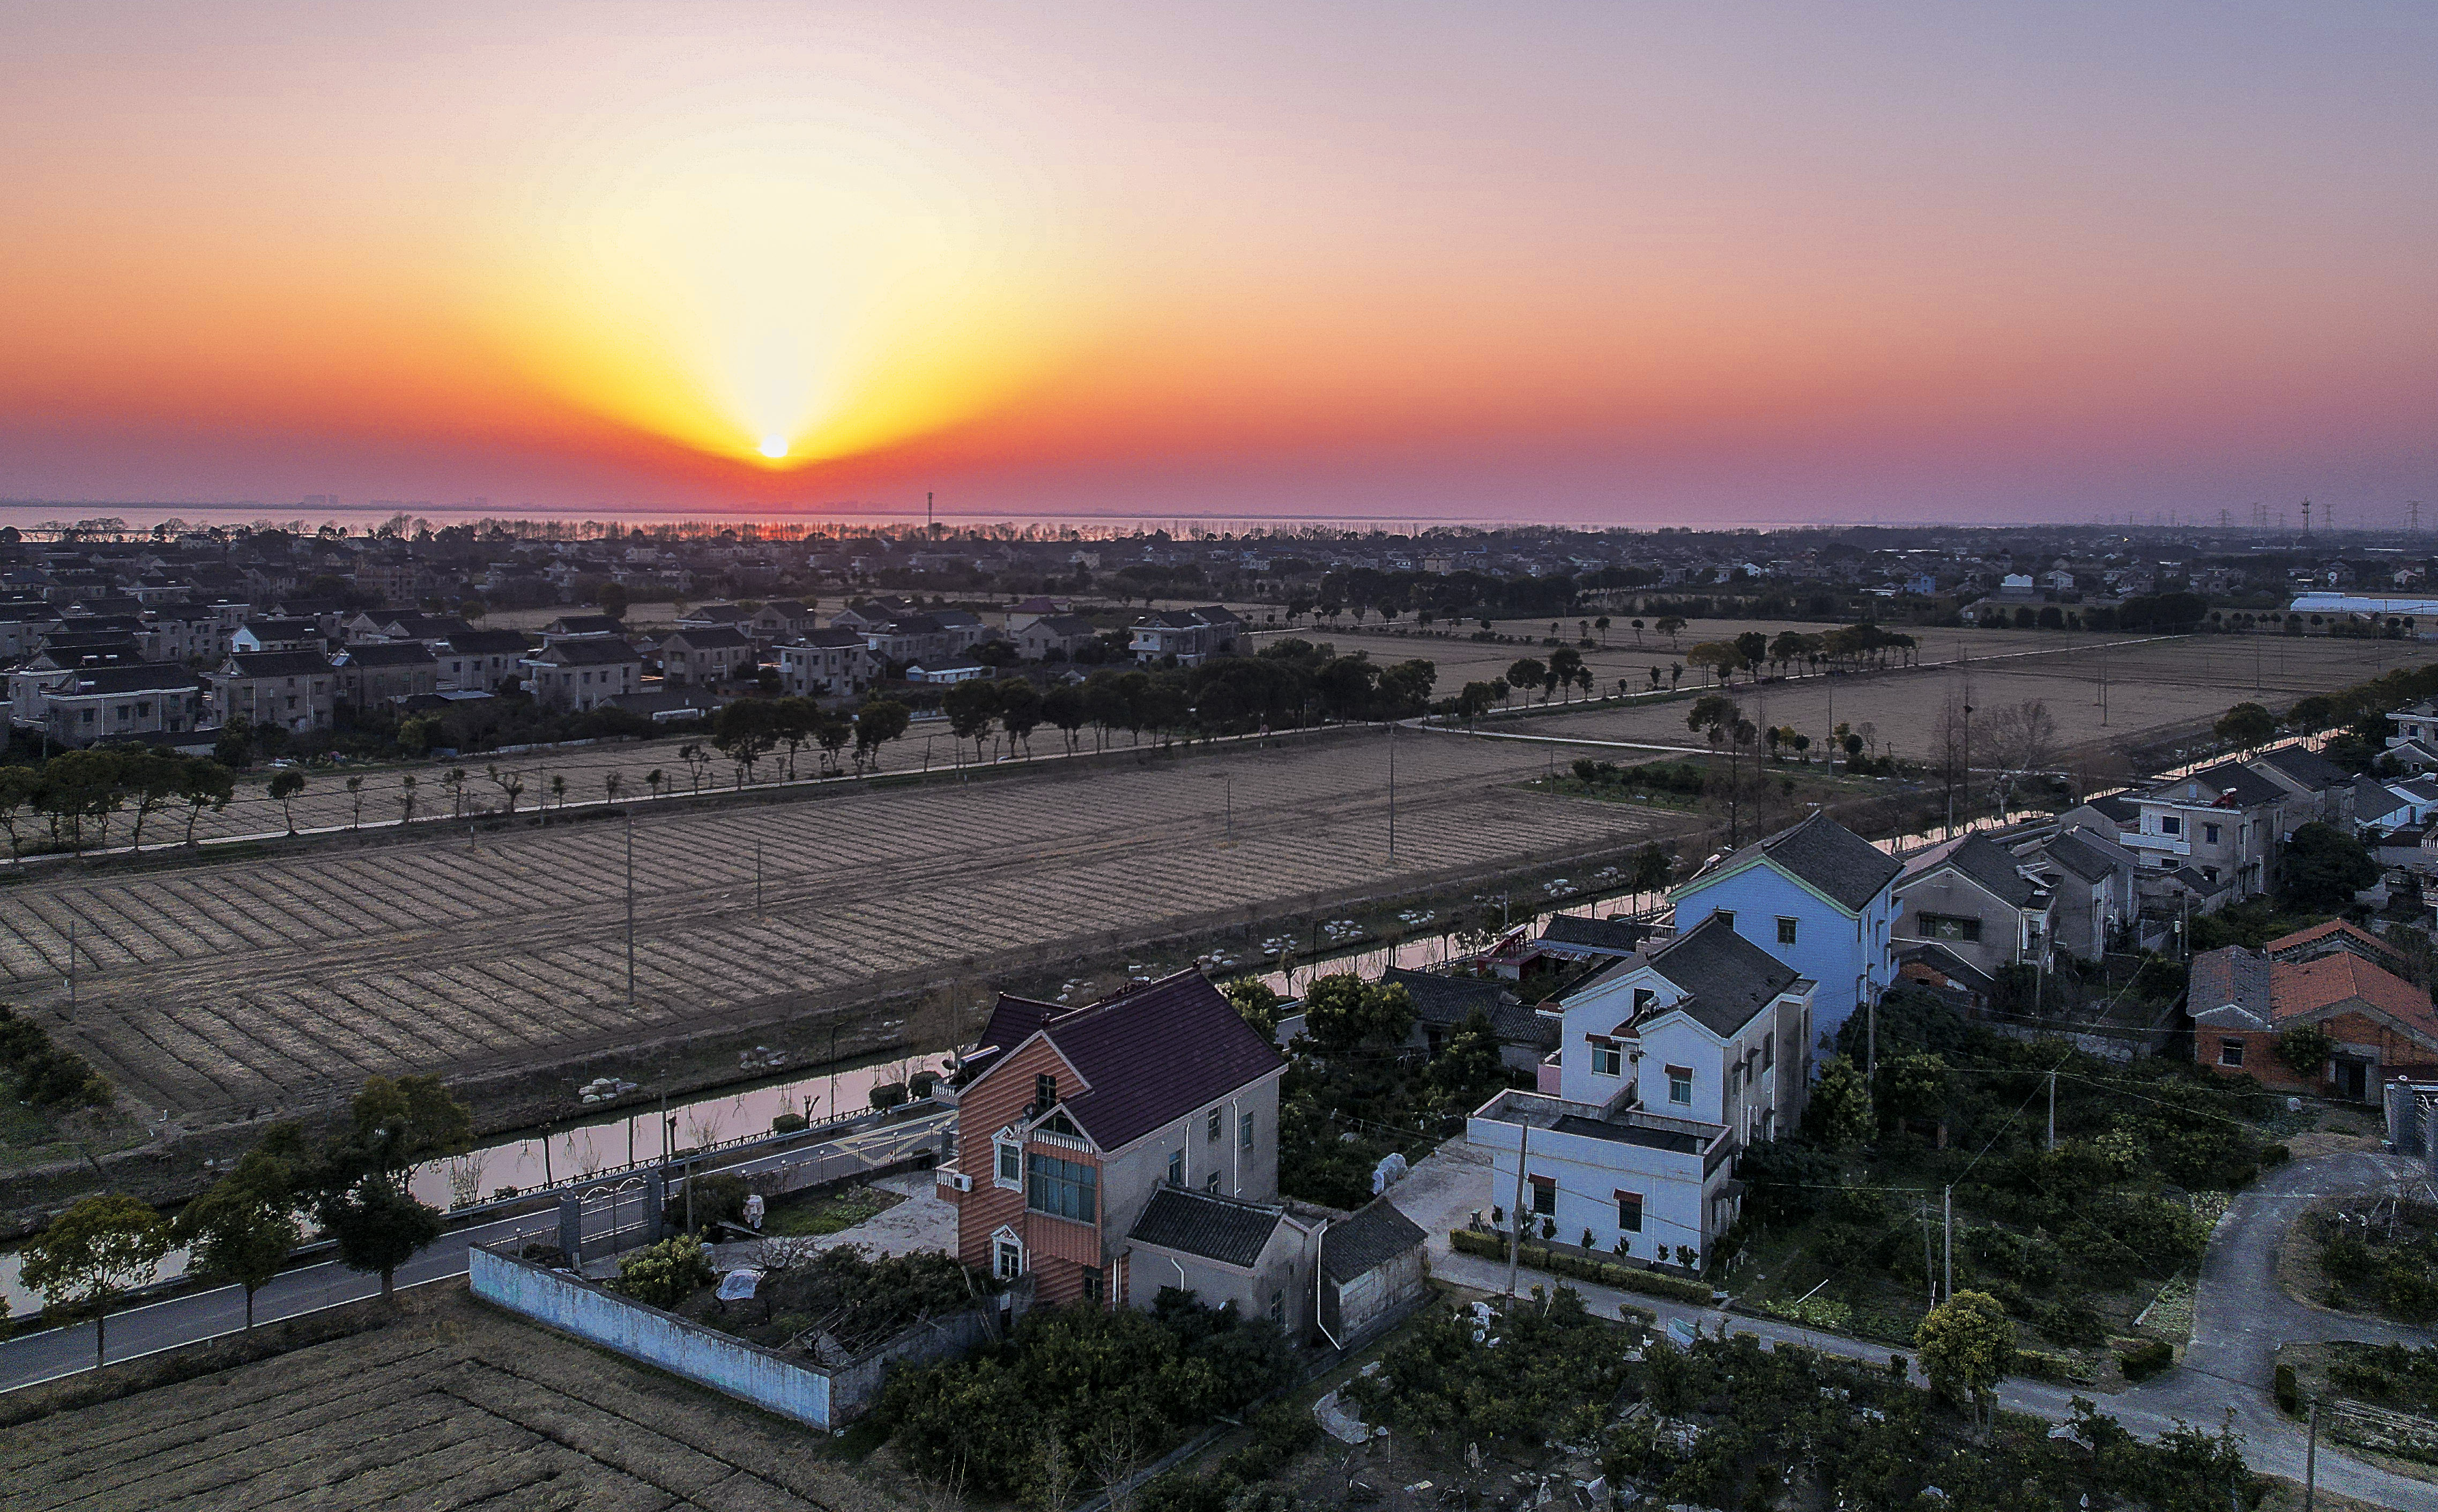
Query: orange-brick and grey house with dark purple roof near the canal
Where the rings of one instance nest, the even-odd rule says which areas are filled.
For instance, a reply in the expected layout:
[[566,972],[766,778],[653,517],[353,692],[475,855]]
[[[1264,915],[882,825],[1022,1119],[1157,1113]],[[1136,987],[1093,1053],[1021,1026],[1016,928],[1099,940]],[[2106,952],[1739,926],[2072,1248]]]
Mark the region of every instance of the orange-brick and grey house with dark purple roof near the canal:
[[1085,1007],[1000,997],[958,1066],[956,1249],[1039,1302],[1163,1285],[1309,1317],[1314,1219],[1278,1200],[1278,1046],[1199,971]]

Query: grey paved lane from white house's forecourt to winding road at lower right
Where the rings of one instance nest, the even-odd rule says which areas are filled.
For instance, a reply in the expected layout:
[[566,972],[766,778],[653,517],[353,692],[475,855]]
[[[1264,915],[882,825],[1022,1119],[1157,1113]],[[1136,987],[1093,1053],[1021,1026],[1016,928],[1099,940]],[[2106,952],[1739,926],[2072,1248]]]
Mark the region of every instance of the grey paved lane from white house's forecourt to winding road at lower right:
[[[2155,1439],[2180,1422],[2216,1432],[2233,1410],[2236,1429],[2245,1439],[2245,1458],[2255,1471],[2301,1480],[2306,1432],[2282,1417],[2270,1400],[2277,1371],[2277,1346],[2289,1341],[2365,1339],[2372,1344],[2438,1344],[2438,1332],[2377,1319],[2343,1317],[2306,1307],[2284,1295],[2277,1285],[2277,1241],[2287,1227],[2301,1217],[2314,1197],[2326,1193],[2384,1190],[2399,1175],[2411,1175],[2411,1161],[2392,1156],[2316,1156],[2292,1161],[2267,1173],[2241,1193],[2219,1222],[2209,1253],[2202,1261],[2194,1290],[2194,1327],[2184,1361],[2143,1385],[2089,1395],[2126,1427],[2126,1432]],[[1429,1239],[1431,1273],[1458,1285],[1502,1293],[1507,1290],[1507,1266],[1480,1256],[1455,1253],[1448,1246],[1448,1229],[1463,1227],[1475,1207],[1487,1210],[1490,1163],[1473,1156],[1463,1141],[1451,1141],[1414,1168],[1414,1175],[1392,1188],[1390,1200]],[[1526,1271],[1526,1285],[1548,1280]],[[1660,1324],[1670,1319],[1692,1322],[1702,1332],[1716,1332],[1724,1322],[1736,1334],[1753,1334],[1770,1344],[1802,1344],[1821,1353],[1885,1363],[1894,1351],[1885,1344],[1821,1334],[1794,1324],[1726,1314],[1716,1310],[1687,1307],[1638,1293],[1621,1293],[1604,1285],[1568,1280],[1582,1293],[1594,1312],[1614,1314],[1621,1302],[1658,1312]],[[2038,1380],[2009,1378],[1999,1388],[1999,1402],[2016,1412],[2036,1412],[2053,1422],[2072,1417],[2072,1388]],[[2399,1512],[2423,1512],[2438,1505],[2438,1488],[2379,1471],[2343,1453],[2326,1439],[2319,1446],[2319,1485],[2377,1507]]]

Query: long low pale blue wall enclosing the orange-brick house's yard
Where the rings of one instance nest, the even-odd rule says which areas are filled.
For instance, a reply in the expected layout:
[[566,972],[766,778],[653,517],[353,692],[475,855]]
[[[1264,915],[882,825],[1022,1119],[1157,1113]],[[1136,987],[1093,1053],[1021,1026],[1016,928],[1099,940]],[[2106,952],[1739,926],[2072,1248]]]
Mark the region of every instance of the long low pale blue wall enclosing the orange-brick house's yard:
[[475,1244],[466,1261],[473,1295],[485,1302],[817,1429],[863,1417],[890,1366],[963,1356],[997,1334],[995,1314],[975,1307],[922,1319],[853,1358],[822,1366],[495,1246]]

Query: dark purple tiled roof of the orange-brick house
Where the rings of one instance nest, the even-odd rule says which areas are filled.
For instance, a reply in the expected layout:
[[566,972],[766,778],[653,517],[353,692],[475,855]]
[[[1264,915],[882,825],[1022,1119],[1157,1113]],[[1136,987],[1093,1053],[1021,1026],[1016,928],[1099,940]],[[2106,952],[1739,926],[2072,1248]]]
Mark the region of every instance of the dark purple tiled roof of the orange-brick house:
[[1065,1107],[1104,1151],[1285,1066],[1199,971],[1063,1012],[1043,1032],[1090,1088]]

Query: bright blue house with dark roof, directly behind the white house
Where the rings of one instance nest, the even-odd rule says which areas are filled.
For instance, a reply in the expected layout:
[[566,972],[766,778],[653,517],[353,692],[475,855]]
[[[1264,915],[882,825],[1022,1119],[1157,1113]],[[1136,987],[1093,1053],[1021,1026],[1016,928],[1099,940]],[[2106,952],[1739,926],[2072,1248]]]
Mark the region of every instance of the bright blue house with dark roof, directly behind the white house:
[[1902,871],[1894,856],[1816,812],[1704,866],[1670,902],[1677,934],[1726,915],[1736,934],[1819,983],[1811,1027],[1836,1039],[1853,1010],[1877,1002],[1894,978]]

